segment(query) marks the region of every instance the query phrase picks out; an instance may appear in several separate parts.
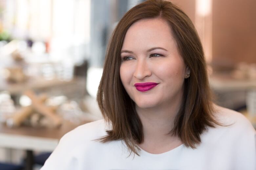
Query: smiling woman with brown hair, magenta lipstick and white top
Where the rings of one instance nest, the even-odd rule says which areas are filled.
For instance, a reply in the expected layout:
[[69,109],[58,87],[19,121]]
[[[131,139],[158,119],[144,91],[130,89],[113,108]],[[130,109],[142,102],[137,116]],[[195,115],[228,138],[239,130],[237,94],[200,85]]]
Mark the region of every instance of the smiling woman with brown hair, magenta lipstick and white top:
[[118,23],[97,101],[104,120],[66,134],[42,170],[256,169],[255,130],[212,103],[199,37],[171,2]]

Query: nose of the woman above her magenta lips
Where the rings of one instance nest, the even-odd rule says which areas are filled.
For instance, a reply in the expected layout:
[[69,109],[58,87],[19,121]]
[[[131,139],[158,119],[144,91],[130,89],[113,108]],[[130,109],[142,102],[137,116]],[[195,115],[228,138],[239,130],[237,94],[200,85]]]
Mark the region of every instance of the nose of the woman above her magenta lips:
[[136,65],[136,70],[133,74],[137,79],[143,79],[145,77],[151,76],[152,72],[149,64],[146,60],[138,60]]

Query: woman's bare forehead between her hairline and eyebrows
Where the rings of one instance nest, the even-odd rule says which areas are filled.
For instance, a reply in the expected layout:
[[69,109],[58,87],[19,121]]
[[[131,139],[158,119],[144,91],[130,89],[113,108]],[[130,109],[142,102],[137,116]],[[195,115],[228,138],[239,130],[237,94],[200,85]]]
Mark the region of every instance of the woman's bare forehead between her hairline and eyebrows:
[[146,45],[166,47],[175,45],[175,39],[167,21],[161,18],[142,19],[130,26],[125,35],[123,48]]

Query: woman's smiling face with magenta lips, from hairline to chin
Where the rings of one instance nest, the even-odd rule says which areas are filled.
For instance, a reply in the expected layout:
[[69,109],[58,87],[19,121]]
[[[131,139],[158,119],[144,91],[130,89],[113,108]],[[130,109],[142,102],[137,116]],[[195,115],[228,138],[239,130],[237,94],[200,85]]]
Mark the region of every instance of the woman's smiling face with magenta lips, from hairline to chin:
[[122,84],[137,107],[159,107],[181,99],[189,69],[166,21],[134,23],[125,35],[120,57]]

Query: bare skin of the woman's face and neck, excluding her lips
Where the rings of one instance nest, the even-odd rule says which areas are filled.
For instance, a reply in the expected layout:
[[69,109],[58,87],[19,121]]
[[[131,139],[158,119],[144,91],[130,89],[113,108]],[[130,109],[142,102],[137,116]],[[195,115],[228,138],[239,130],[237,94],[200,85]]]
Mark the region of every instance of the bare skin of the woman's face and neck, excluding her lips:
[[[120,78],[143,125],[143,150],[159,154],[181,145],[167,135],[181,107],[184,78],[190,74],[177,49],[168,23],[160,18],[143,19],[127,31],[121,49]],[[134,84],[159,83],[140,92]]]

